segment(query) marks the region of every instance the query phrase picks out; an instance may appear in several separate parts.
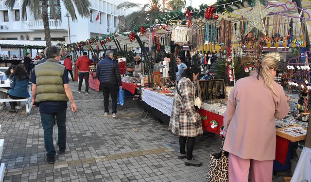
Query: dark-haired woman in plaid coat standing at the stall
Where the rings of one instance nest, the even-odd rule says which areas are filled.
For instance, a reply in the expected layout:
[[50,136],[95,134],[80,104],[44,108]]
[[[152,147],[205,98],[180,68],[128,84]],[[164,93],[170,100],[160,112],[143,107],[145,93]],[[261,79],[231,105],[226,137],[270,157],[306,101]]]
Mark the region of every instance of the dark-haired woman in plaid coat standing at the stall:
[[[187,158],[185,165],[201,166],[192,156],[195,137],[203,134],[201,117],[194,108],[195,86],[193,82],[201,73],[201,68],[190,66],[184,70],[177,84],[169,130],[179,136],[180,153],[178,159]],[[185,151],[187,141],[187,153]]]

